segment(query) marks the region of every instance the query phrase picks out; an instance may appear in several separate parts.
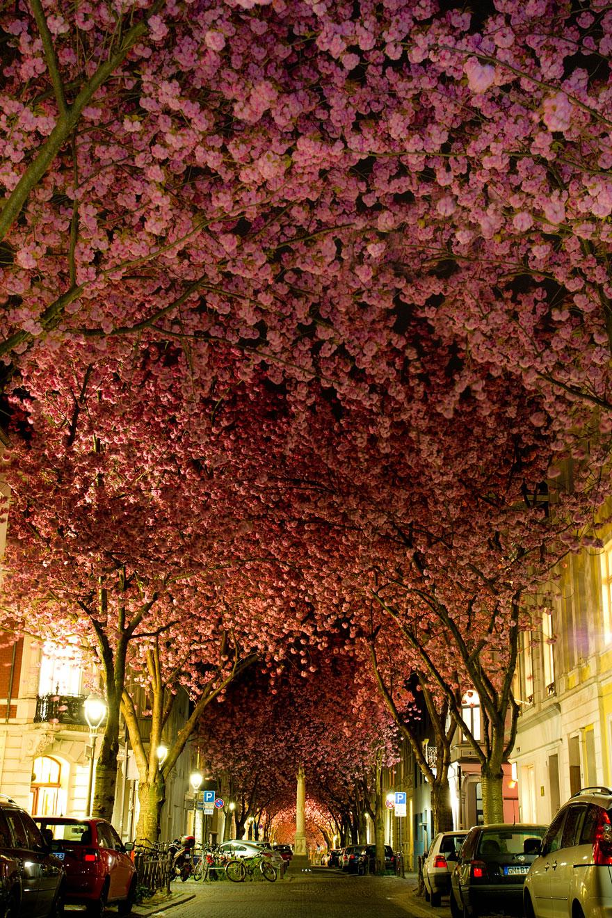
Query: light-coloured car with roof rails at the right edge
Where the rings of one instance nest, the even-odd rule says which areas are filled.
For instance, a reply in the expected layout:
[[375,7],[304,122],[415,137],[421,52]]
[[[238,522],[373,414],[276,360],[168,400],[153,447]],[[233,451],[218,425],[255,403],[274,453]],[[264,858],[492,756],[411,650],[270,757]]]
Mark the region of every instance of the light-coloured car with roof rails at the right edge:
[[584,788],[574,794],[534,851],[523,890],[527,918],[612,914],[611,789]]

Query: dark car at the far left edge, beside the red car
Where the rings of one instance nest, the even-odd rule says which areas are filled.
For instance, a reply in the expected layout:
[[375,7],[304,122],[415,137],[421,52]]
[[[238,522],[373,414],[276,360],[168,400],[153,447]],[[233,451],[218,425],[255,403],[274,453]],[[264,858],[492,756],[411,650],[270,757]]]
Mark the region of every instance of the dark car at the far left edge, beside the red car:
[[0,799],[0,903],[10,918],[61,918],[65,875],[25,810]]

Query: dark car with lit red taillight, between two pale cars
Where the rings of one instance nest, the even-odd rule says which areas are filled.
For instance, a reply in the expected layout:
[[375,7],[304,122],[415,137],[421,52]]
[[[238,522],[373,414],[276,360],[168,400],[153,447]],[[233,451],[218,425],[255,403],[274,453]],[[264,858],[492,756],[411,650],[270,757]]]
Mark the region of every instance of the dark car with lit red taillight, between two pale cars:
[[[523,883],[545,825],[495,823],[468,832],[451,873],[452,918],[522,913]],[[451,856],[451,853],[450,853]]]

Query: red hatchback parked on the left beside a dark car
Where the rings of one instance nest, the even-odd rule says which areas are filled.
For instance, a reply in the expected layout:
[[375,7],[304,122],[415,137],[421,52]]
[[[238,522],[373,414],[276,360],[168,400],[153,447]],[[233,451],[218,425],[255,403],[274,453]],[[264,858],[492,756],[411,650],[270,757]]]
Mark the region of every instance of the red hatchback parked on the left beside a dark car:
[[92,918],[111,902],[120,915],[132,911],[137,879],[128,851],[134,845],[124,845],[105,819],[36,816],[35,822],[63,864],[66,903],[85,905]]

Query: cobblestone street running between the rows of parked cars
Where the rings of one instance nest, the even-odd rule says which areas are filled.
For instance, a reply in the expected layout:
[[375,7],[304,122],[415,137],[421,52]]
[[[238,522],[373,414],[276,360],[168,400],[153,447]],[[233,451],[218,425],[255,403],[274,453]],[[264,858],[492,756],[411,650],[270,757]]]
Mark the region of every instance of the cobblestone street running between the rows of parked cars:
[[[335,871],[289,873],[276,883],[188,882],[180,892],[195,898],[171,908],[161,903],[152,914],[156,918],[422,918],[429,913],[423,911],[421,901],[413,909],[414,887],[405,880]],[[439,918],[444,911],[438,910]],[[112,913],[109,910],[108,918]]]

